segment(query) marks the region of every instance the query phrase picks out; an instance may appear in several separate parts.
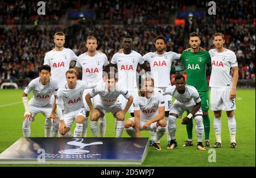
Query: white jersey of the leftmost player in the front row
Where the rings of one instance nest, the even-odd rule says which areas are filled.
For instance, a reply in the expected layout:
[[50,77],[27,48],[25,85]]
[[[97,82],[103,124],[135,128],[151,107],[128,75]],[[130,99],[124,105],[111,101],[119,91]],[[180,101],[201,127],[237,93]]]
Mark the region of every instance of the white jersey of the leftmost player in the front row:
[[33,96],[29,101],[30,105],[43,108],[51,103],[51,97],[52,95],[57,95],[58,88],[57,82],[52,78],[49,78],[47,85],[43,85],[41,83],[41,78],[38,77],[31,80],[24,92],[27,95],[30,94],[31,91],[33,93]]

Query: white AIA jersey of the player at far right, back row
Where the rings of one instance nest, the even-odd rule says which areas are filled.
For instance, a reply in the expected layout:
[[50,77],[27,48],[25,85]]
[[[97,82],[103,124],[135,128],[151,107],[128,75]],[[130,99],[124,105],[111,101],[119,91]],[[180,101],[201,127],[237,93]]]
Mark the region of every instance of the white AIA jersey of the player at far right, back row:
[[212,61],[212,73],[210,74],[210,87],[232,88],[232,67],[238,66],[236,54],[229,49],[218,53],[216,49],[209,50]]

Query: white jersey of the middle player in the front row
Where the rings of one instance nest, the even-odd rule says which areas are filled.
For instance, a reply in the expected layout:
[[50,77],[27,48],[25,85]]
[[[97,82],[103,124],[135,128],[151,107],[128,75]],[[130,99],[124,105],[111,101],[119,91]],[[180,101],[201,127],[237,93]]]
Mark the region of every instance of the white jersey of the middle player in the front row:
[[123,95],[126,99],[131,96],[130,92],[121,87],[118,83],[115,85],[113,91],[108,91],[106,83],[100,83],[97,87],[93,88],[89,94],[92,97],[100,95],[101,101],[105,105],[113,105],[117,101],[119,95]]

